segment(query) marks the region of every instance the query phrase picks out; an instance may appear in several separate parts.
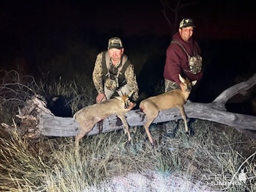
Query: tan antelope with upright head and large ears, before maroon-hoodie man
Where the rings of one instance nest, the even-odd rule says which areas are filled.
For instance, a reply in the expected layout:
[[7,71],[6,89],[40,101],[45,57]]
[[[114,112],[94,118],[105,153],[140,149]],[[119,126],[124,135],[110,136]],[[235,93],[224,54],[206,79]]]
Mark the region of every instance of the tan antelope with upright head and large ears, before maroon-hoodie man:
[[180,89],[167,91],[166,93],[147,98],[140,103],[140,109],[146,115],[147,120],[144,127],[151,145],[154,145],[154,141],[149,132],[149,126],[161,110],[177,107],[184,120],[186,133],[190,135],[183,105],[187,102],[192,85],[195,85],[197,81],[190,82],[188,79],[181,77],[180,74],[179,78],[181,81]]

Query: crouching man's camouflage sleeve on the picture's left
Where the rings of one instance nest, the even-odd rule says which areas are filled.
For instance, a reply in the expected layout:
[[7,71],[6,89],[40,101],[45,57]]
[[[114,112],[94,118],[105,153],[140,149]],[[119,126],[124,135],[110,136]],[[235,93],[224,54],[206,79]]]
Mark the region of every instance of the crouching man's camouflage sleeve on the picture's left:
[[102,55],[103,55],[103,52],[97,55],[97,59],[95,61],[95,65],[92,73],[92,81],[98,94],[104,93],[104,86],[103,86],[103,80],[102,80],[102,76],[103,76]]

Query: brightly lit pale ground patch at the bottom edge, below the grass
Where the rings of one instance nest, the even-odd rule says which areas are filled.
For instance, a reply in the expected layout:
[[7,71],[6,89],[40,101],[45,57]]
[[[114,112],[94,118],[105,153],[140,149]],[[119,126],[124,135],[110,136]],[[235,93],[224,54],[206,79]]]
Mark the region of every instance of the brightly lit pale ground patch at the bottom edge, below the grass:
[[125,176],[119,176],[109,179],[101,183],[99,186],[86,188],[87,191],[182,191],[182,192],[198,192],[198,191],[217,191],[206,186],[202,182],[194,184],[182,172],[174,172],[169,175],[160,175],[154,171],[145,173],[129,173]]

